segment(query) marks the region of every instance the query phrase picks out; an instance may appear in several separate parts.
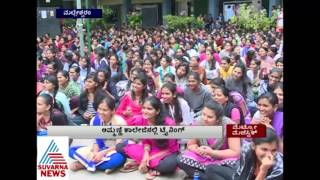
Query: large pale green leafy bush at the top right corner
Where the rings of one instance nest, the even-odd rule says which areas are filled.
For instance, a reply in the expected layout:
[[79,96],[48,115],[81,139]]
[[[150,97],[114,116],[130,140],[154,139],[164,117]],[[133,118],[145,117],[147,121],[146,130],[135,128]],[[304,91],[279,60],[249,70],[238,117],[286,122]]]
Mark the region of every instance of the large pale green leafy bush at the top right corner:
[[231,18],[231,24],[236,25],[239,29],[246,31],[263,30],[267,31],[275,27],[275,16],[269,18],[265,9],[256,11],[251,6],[245,4],[240,6],[240,13],[238,16]]

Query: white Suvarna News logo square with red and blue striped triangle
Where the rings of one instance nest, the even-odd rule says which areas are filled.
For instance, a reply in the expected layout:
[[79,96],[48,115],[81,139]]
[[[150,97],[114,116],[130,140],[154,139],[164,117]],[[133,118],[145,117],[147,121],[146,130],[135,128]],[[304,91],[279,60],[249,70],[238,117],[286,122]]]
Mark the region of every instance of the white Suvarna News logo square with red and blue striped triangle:
[[68,180],[68,137],[38,137],[37,180]]

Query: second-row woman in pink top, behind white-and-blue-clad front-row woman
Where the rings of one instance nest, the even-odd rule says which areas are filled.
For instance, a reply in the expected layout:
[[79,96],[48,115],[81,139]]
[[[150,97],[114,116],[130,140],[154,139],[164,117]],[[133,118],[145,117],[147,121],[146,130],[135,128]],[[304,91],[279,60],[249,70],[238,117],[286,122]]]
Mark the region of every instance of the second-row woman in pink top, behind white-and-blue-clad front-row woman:
[[116,114],[123,117],[130,125],[130,119],[135,115],[142,114],[142,104],[145,98],[148,97],[147,90],[148,78],[144,73],[139,73],[132,82],[132,89],[127,92],[116,110]]

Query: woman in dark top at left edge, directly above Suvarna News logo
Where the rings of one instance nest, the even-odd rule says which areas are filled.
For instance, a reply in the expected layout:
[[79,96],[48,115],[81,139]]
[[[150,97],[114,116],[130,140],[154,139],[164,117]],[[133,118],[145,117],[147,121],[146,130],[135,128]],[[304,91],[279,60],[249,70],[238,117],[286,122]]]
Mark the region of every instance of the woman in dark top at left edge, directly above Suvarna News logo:
[[54,108],[54,99],[49,94],[37,97],[37,135],[47,135],[47,127],[54,125],[68,125],[67,116]]

